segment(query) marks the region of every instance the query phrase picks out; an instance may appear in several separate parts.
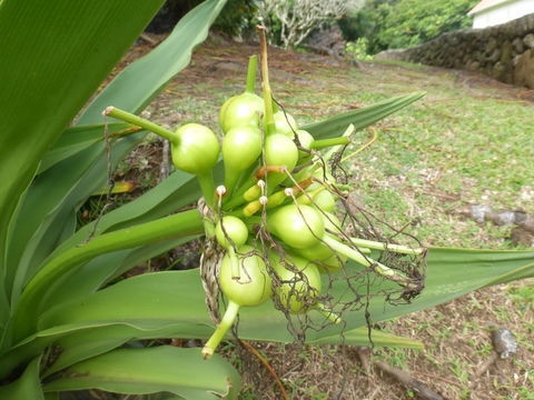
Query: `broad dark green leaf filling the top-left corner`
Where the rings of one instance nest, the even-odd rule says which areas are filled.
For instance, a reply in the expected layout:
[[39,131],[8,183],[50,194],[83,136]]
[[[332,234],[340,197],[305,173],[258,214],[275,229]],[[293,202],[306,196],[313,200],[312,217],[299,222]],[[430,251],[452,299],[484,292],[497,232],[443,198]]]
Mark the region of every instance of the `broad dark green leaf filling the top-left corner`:
[[[0,254],[40,159],[162,2],[1,2]],[[2,277],[4,262],[2,256]]]

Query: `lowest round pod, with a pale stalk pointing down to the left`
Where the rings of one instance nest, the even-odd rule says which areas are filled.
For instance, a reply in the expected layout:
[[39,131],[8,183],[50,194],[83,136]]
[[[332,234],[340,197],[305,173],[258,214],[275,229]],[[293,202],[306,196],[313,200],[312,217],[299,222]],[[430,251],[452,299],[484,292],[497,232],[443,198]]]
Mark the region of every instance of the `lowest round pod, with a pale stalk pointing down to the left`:
[[[250,246],[243,246],[239,251],[253,251]],[[238,306],[259,306],[271,294],[271,279],[264,260],[259,256],[238,256],[241,279],[233,279],[230,258],[225,256],[220,263],[220,290]]]

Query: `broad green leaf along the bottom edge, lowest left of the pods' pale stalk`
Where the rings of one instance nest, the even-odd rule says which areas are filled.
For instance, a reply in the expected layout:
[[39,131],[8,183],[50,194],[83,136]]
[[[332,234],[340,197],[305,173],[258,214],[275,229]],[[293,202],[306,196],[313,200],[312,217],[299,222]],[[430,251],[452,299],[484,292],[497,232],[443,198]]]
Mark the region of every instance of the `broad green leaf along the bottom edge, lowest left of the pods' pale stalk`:
[[240,378],[221,357],[206,361],[200,349],[121,349],[67,369],[44,391],[103,389],[119,393],[171,392],[190,400],[236,399]]

